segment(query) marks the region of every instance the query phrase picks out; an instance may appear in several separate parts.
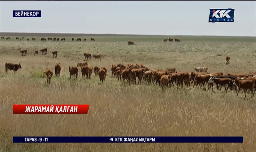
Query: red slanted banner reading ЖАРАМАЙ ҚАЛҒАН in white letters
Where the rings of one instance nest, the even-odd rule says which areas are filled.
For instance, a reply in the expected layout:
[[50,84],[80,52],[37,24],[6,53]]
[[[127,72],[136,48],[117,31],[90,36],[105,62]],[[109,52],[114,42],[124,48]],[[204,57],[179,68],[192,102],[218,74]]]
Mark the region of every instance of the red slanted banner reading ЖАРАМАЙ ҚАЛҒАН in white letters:
[[13,114],[87,114],[90,105],[12,105]]

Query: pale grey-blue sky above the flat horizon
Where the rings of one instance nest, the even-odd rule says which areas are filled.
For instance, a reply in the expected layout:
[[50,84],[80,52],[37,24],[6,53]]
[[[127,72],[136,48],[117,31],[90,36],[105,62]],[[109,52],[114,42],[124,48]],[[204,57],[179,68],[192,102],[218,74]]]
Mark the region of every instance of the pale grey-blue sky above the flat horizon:
[[[208,22],[209,9],[228,8],[234,22]],[[256,1],[0,1],[0,32],[256,36]]]

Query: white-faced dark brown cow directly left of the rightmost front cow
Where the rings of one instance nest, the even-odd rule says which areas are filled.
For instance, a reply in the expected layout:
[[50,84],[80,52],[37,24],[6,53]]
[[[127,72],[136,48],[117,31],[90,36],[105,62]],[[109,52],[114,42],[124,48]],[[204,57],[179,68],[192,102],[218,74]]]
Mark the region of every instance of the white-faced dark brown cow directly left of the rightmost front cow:
[[230,79],[230,78],[210,77],[210,79],[208,80],[208,83],[215,83],[218,91],[219,91],[219,85],[220,85],[220,90],[221,90],[222,86],[225,88],[225,90],[227,90],[228,88],[226,88],[225,85],[228,85],[230,90],[233,90],[232,89],[232,87],[233,87],[233,80]]

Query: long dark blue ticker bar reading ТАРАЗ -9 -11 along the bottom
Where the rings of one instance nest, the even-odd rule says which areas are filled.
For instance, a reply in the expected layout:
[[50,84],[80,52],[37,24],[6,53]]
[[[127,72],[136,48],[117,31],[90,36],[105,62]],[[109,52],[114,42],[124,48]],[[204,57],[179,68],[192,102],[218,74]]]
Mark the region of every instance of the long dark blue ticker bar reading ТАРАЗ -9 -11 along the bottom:
[[[25,139],[26,138],[26,139]],[[112,139],[113,138],[113,139]],[[119,139],[118,139],[119,138]],[[122,138],[122,141],[120,139]],[[124,139],[126,138],[126,141]],[[127,139],[134,141],[127,141]],[[135,141],[135,139],[141,141]],[[148,141],[149,138],[154,141]],[[112,141],[111,141],[112,139]],[[144,141],[143,141],[144,139]],[[13,137],[13,143],[243,143],[243,137]]]

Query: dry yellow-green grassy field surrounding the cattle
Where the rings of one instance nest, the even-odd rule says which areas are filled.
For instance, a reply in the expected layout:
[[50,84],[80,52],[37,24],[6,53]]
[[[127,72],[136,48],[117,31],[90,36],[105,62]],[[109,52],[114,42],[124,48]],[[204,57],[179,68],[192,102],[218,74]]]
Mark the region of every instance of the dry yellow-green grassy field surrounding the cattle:
[[[1,35],[6,37],[5,35]],[[152,69],[175,67],[191,72],[208,67],[209,72],[249,73],[256,67],[255,37],[217,36],[111,36],[88,35],[86,42],[41,42],[42,37],[0,40],[0,151],[255,151],[255,96],[227,91],[159,85],[129,85],[111,76],[111,65],[141,63]],[[17,37],[22,37],[19,35]],[[26,41],[26,38],[30,41]],[[31,41],[32,37],[36,41]],[[55,37],[55,36],[49,36]],[[90,37],[95,42],[88,41]],[[181,43],[163,42],[179,38]],[[128,46],[127,41],[135,45]],[[33,52],[48,49],[47,55]],[[21,56],[20,50],[28,50]],[[51,51],[58,51],[52,58]],[[105,55],[87,61],[108,70],[101,84],[98,76],[69,80],[68,66],[84,60],[83,53]],[[226,56],[230,64],[226,65]],[[16,74],[5,73],[5,62],[20,63]],[[46,68],[61,64],[60,77],[50,85],[42,78]],[[86,115],[12,114],[12,104],[90,104]],[[12,143],[12,136],[243,136],[244,143]],[[254,150],[253,150],[254,149]]]

